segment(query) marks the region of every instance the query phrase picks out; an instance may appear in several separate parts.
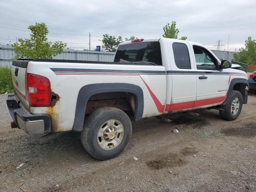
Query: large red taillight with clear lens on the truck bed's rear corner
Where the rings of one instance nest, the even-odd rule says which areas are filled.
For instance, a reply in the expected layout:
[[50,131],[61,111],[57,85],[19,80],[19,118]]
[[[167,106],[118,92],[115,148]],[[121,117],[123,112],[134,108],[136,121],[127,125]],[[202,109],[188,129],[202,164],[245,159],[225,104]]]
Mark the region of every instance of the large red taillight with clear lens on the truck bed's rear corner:
[[29,105],[32,107],[51,106],[51,86],[48,78],[29,73],[27,75]]

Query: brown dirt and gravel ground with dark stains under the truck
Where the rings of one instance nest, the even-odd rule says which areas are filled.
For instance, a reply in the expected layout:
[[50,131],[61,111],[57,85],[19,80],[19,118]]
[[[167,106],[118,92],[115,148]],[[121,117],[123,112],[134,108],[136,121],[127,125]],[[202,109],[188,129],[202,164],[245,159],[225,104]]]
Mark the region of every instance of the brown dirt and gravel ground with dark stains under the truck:
[[0,122],[0,191],[255,192],[256,96],[248,96],[232,122],[216,110],[196,112],[200,115],[169,116],[170,123],[133,122],[130,144],[107,161],[91,158],[79,133],[40,145],[39,135],[11,129],[10,117],[5,118]]

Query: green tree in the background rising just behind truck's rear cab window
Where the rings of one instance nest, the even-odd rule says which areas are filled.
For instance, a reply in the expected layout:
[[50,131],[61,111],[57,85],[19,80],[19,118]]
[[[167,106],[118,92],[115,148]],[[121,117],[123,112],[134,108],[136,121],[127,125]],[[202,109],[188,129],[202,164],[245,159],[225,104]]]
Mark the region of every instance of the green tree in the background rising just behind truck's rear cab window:
[[116,38],[115,36],[109,36],[108,34],[104,34],[102,42],[105,46],[106,51],[115,52],[118,45],[123,42],[123,38],[121,36],[118,36],[118,38]]

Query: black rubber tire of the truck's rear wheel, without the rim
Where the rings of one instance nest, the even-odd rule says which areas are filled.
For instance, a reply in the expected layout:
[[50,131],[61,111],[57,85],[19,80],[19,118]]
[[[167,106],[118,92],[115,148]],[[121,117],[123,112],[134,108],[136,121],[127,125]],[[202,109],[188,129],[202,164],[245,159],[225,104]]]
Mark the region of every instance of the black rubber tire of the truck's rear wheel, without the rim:
[[[112,150],[102,149],[97,141],[98,130],[102,124],[110,119],[120,121],[124,127],[122,141]],[[128,145],[132,136],[132,123],[128,115],[114,107],[102,107],[96,109],[84,121],[81,140],[85,150],[98,160],[108,160],[118,156]]]

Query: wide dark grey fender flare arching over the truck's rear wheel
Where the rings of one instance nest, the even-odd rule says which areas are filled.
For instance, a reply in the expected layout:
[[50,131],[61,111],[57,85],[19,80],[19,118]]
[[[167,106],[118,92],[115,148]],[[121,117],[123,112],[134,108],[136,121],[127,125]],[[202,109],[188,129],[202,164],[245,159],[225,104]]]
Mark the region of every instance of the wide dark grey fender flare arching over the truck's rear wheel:
[[136,110],[134,112],[134,120],[142,118],[144,110],[144,95],[142,88],[134,84],[126,83],[102,83],[102,84],[89,84],[83,86],[79,93],[76,102],[76,112],[74,118],[73,131],[82,131],[84,124],[84,116],[86,105],[91,96],[107,92],[128,92],[136,96]]

